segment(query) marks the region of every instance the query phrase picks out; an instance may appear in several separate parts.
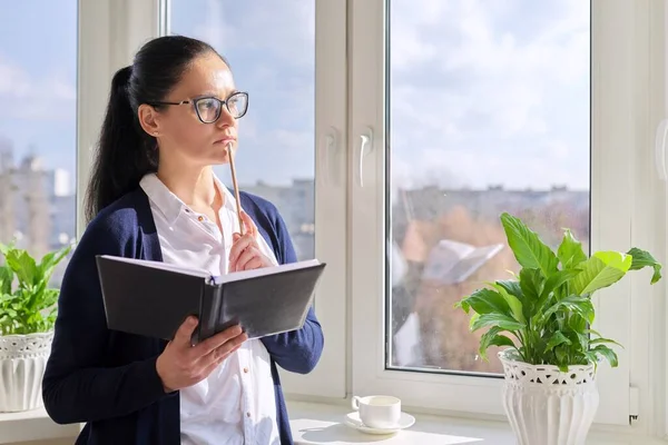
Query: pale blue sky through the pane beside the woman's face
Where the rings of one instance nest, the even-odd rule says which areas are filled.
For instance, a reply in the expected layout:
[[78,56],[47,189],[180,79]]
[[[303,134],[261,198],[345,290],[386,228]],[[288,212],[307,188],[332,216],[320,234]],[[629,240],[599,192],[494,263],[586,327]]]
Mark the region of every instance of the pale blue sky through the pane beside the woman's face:
[[[194,28],[249,91],[239,121],[239,180],[287,184],[314,175],[315,2],[208,0]],[[278,167],[278,168],[276,168]]]

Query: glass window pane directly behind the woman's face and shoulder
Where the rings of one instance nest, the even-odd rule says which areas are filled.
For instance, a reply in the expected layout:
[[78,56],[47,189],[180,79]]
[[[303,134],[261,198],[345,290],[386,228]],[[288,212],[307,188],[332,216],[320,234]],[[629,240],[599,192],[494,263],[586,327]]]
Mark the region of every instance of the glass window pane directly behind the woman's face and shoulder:
[[[202,39],[248,91],[235,158],[239,189],[271,200],[298,259],[314,257],[313,0],[171,0],[171,32]],[[228,166],[216,174],[232,186]]]

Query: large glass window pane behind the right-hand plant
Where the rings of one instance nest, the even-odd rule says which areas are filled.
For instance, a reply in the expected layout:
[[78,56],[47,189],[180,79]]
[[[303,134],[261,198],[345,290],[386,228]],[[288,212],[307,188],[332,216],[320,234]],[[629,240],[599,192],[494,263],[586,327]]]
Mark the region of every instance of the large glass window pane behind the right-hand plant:
[[589,248],[589,16],[581,0],[391,0],[387,366],[501,372],[453,304],[519,269],[502,211]]

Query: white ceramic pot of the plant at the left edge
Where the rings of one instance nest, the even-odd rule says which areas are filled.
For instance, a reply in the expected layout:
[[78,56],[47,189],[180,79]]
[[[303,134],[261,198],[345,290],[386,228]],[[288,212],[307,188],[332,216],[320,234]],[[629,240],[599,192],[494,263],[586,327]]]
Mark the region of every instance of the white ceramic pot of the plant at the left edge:
[[43,406],[41,380],[53,333],[0,336],[0,412]]

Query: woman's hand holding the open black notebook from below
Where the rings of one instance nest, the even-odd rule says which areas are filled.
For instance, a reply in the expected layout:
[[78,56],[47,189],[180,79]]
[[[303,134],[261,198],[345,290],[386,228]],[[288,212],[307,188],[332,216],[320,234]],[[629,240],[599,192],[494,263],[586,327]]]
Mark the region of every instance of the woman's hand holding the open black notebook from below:
[[191,346],[190,336],[196,327],[197,318],[188,317],[156,362],[167,393],[204,380],[248,338],[239,326],[233,326]]

